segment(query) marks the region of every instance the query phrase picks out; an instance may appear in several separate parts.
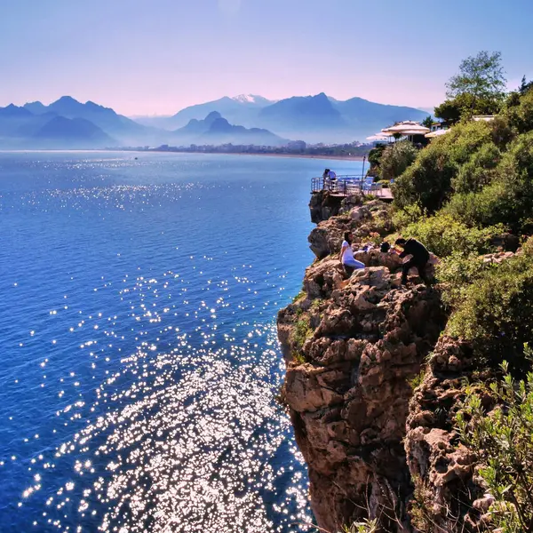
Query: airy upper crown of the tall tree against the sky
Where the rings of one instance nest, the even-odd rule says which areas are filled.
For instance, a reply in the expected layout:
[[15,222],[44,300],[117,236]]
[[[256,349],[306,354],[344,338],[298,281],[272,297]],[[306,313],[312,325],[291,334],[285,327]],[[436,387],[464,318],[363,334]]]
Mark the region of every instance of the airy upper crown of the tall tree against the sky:
[[475,99],[503,99],[506,80],[501,59],[501,52],[482,51],[462,60],[459,73],[446,84],[446,96],[455,99],[466,93]]

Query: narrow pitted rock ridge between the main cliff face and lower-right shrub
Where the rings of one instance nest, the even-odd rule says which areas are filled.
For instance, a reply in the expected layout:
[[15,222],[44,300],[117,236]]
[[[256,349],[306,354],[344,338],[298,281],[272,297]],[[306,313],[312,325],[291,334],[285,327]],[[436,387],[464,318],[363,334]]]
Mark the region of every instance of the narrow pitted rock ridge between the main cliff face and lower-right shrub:
[[470,346],[440,338],[410,402],[407,463],[417,494],[425,500],[425,529],[434,533],[485,530],[481,521],[488,501],[475,476],[475,457],[459,442],[454,422],[473,364]]

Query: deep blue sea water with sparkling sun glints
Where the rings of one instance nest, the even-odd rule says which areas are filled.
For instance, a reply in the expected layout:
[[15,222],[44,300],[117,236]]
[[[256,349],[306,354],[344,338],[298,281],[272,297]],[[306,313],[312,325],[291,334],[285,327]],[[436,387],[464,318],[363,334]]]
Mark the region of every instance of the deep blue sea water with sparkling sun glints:
[[0,531],[308,529],[275,315],[326,166],[0,154]]

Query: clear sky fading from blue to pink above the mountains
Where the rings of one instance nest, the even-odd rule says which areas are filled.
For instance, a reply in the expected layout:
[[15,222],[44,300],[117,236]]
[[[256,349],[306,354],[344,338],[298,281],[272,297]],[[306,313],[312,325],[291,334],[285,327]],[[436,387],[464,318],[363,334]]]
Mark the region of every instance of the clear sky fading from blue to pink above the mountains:
[[325,92],[434,107],[461,60],[533,78],[533,0],[0,0],[0,106],[63,95],[123,115]]

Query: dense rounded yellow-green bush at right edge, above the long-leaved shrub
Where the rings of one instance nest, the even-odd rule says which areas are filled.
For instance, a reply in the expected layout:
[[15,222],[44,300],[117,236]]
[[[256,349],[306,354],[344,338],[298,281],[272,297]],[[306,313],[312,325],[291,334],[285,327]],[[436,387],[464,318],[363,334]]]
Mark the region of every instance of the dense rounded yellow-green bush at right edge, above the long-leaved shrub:
[[483,357],[523,361],[523,344],[533,334],[533,238],[521,255],[487,269],[465,287],[447,331],[471,341]]

